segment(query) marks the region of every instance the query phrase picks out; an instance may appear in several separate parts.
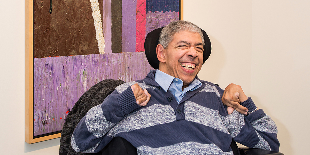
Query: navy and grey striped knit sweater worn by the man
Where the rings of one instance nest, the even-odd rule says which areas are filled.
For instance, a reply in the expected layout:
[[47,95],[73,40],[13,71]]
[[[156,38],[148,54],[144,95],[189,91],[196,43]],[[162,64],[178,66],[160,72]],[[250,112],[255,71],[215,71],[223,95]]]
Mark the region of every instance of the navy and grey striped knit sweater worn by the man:
[[[228,115],[221,101],[224,91],[201,80],[202,86],[189,91],[178,104],[170,91],[155,82],[155,72],[116,87],[102,104],[91,108],[73,132],[73,149],[99,152],[119,136],[133,144],[138,154],[232,155],[232,139],[250,148],[279,150],[277,127],[262,109],[247,117],[237,111]],[[131,91],[135,83],[152,95],[144,107],[136,104]],[[249,111],[256,108],[250,98],[242,105]]]

